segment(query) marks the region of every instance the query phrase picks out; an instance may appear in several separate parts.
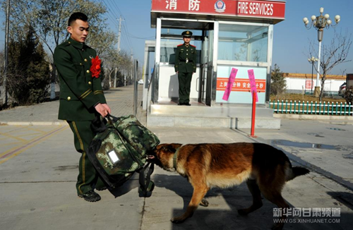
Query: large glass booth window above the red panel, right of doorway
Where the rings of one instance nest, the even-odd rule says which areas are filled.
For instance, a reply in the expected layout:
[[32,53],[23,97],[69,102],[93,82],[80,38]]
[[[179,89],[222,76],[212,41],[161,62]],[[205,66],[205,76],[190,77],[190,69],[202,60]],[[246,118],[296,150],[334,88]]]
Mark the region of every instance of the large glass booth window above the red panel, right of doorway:
[[218,60],[267,62],[268,27],[220,24]]

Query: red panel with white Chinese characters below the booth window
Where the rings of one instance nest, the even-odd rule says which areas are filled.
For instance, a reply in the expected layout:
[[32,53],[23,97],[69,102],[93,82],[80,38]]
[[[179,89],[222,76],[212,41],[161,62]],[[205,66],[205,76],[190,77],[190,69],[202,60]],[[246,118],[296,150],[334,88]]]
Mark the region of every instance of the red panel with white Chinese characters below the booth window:
[[[225,91],[228,84],[228,78],[217,78],[217,91]],[[256,79],[256,91],[265,92],[266,80]],[[251,84],[249,78],[235,78],[232,85],[232,91],[251,92]]]

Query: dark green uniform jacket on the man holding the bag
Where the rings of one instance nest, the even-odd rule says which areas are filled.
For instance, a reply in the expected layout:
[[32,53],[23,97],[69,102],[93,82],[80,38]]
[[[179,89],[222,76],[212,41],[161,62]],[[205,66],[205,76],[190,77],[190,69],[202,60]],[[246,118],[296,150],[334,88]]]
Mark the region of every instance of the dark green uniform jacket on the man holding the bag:
[[92,78],[91,59],[95,49],[71,37],[54,51],[54,64],[59,73],[59,119],[90,121],[95,118],[95,104],[106,104],[101,78]]

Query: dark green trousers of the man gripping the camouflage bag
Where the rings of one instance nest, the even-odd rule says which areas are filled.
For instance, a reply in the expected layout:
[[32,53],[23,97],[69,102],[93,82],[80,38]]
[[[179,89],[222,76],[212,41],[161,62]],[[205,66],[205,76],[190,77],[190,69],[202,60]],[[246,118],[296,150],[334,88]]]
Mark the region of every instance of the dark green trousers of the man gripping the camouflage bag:
[[78,177],[76,183],[78,195],[88,193],[94,188],[104,187],[104,182],[86,154],[86,150],[95,136],[95,132],[90,128],[91,121],[67,122],[73,132],[75,148],[77,152],[81,153],[80,162],[78,163]]

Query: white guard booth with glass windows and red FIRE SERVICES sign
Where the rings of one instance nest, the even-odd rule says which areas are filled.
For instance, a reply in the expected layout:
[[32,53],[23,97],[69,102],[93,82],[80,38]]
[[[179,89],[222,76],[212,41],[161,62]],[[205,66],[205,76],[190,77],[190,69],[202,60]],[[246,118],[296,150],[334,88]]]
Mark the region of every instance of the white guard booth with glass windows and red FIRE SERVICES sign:
[[[265,111],[270,99],[273,25],[282,20],[285,20],[285,1],[152,0],[155,66],[151,85],[145,86],[150,93],[150,114],[158,114],[161,119],[173,111],[181,116],[195,111],[198,115],[193,117],[199,119],[210,116],[209,113],[218,118],[233,115],[250,118],[251,113],[246,109],[252,102],[249,70],[256,80],[258,108]],[[191,107],[187,108],[177,106],[179,85],[174,72],[175,51],[184,42],[181,36],[184,30],[193,32],[191,44],[196,46],[198,56],[191,81]],[[225,100],[222,97],[232,68],[237,69],[237,75]],[[264,114],[273,116],[272,111]],[[174,116],[174,123],[175,119]]]

